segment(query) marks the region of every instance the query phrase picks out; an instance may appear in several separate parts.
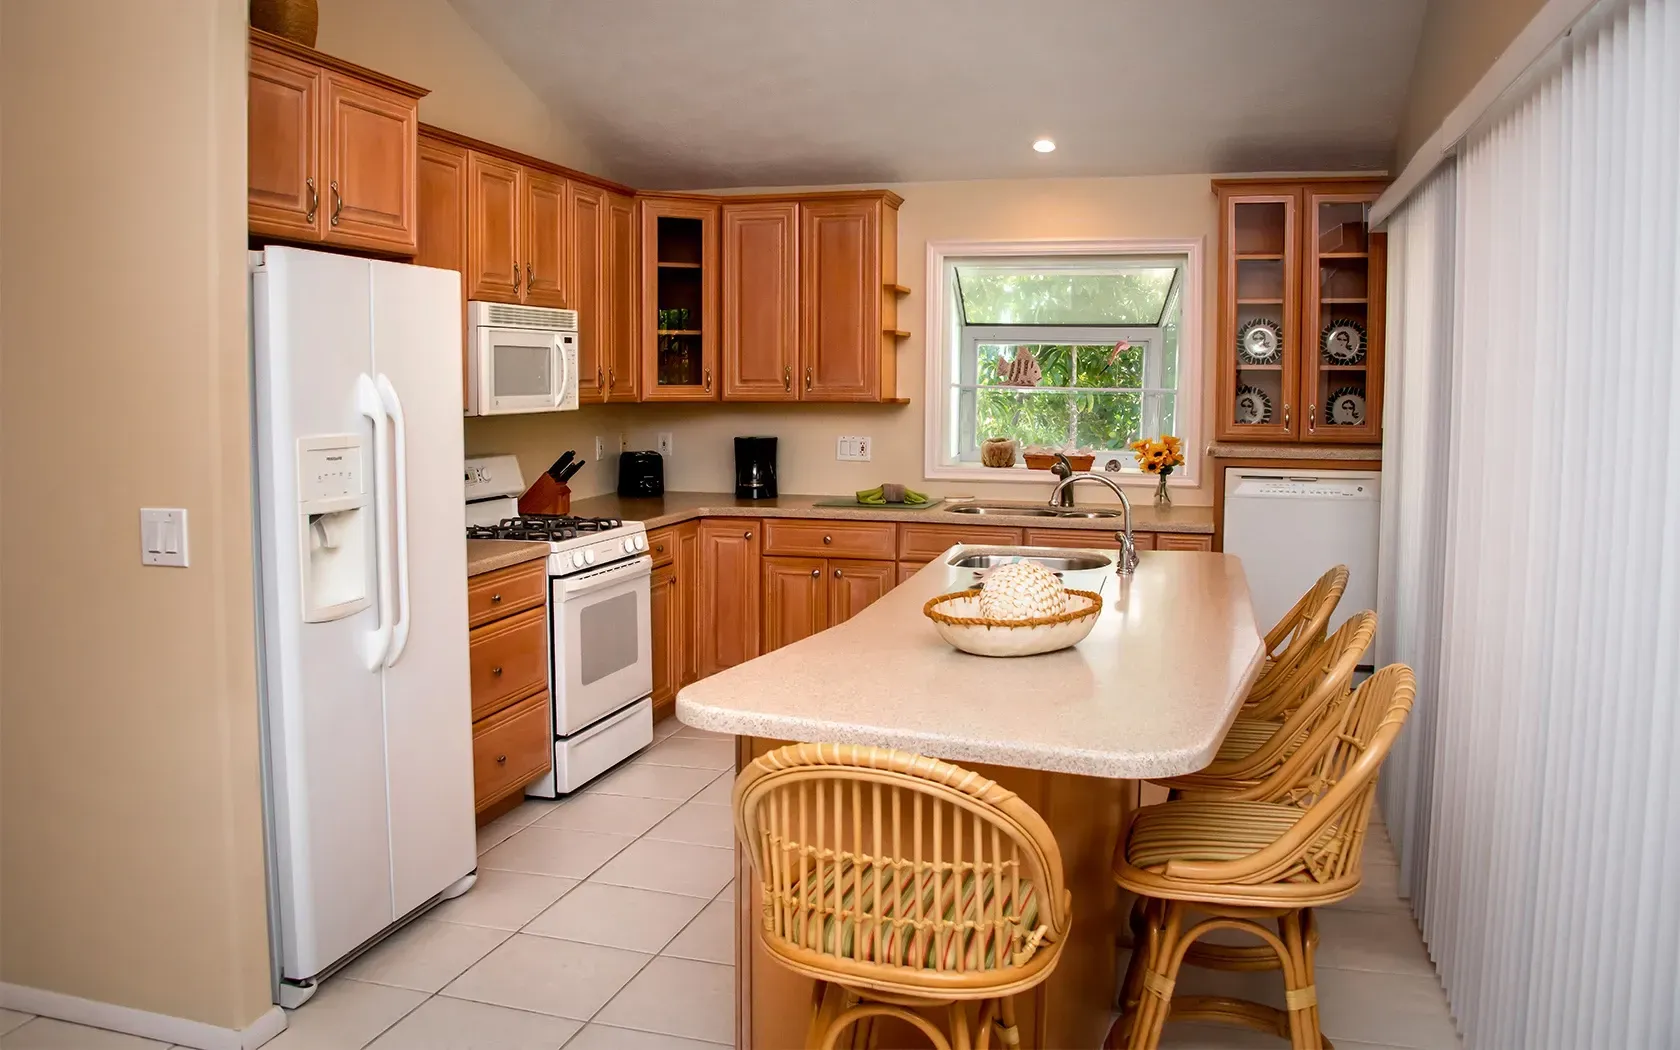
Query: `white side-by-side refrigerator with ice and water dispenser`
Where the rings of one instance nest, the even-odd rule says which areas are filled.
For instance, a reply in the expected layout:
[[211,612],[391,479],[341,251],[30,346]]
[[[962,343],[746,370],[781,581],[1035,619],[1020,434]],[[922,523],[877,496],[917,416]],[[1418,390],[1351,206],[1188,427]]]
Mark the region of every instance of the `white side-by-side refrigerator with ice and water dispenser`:
[[460,277],[252,252],[277,1001],[477,867]]

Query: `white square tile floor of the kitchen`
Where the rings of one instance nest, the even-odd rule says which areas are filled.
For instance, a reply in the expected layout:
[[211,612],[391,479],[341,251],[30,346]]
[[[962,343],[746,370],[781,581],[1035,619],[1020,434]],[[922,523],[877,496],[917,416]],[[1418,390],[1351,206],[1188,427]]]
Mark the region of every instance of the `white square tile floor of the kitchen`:
[[[716,1050],[734,1040],[727,738],[665,721],[622,769],[479,830],[479,884],[328,981],[269,1050]],[[1320,912],[1319,1000],[1341,1050],[1457,1050],[1394,857],[1373,828],[1368,884]],[[1191,993],[1282,1005],[1275,974],[1186,973]],[[1166,1047],[1284,1043],[1169,1025]],[[0,1010],[0,1050],[168,1050]]]

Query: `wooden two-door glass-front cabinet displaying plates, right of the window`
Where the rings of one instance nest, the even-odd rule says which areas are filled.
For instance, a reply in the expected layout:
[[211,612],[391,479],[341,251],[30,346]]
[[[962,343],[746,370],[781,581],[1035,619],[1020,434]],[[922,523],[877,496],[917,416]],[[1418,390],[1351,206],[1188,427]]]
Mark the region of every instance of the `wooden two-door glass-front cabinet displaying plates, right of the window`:
[[1383,440],[1376,180],[1220,180],[1218,440]]

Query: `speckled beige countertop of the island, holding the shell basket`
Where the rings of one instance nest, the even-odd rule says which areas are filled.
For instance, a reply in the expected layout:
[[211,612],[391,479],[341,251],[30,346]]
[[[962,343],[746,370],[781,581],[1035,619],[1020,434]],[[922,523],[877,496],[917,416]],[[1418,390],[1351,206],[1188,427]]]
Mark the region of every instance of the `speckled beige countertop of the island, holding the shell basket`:
[[951,648],[922,615],[973,580],[948,564],[966,549],[986,548],[951,548],[845,623],[684,687],[677,717],[736,736],[1127,780],[1213,761],[1265,650],[1236,558],[1144,551],[1131,578],[1067,573],[1068,586],[1104,595],[1090,635],[991,659]]

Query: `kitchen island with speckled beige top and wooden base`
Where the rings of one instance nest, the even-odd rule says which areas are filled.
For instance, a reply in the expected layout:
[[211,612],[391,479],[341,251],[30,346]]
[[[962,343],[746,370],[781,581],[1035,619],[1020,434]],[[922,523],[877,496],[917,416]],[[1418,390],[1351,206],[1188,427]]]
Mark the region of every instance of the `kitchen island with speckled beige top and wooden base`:
[[[974,581],[958,546],[853,618],[687,685],[677,717],[738,739],[738,766],[788,741],[917,751],[1015,791],[1048,822],[1074,894],[1057,971],[1018,996],[1021,1045],[1095,1047],[1116,990],[1119,892],[1110,857],[1131,781],[1191,773],[1218,751],[1260,672],[1263,642],[1242,563],[1144,551],[1136,575],[1065,573],[1104,596],[1075,648],[1025,659],[956,652],[922,615]],[[1102,551],[1092,551],[1104,554]],[[738,1047],[803,1045],[810,981],[758,948],[758,887],[738,850]]]

